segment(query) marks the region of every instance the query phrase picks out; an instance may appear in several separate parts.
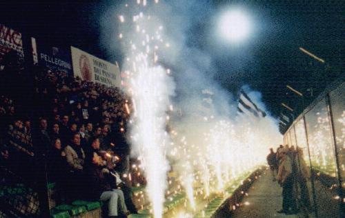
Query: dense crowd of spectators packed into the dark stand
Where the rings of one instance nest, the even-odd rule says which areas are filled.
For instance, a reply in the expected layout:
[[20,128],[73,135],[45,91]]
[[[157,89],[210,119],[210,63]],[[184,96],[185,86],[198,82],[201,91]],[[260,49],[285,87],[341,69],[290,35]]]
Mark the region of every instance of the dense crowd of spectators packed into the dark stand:
[[[40,152],[46,157],[48,180],[57,184],[61,198],[68,201],[102,194],[101,199],[110,199],[113,205],[119,199],[120,209],[126,214],[126,204],[121,201],[123,194],[112,188],[122,184],[125,192],[130,184],[115,182],[114,186],[110,180],[114,180],[118,172],[129,170],[130,148],[126,142],[131,109],[129,97],[119,88],[34,66],[30,69],[34,77],[31,97],[39,102],[39,107],[29,111],[26,106],[30,95],[20,97],[18,94],[28,89],[18,88],[18,81],[13,79],[23,75],[24,70],[16,69],[8,65],[0,71],[0,79],[6,84],[0,92],[0,166],[25,175],[24,171],[30,166],[26,163],[30,161],[28,157],[34,157],[37,150],[34,147],[40,146]],[[35,120],[37,144],[32,142],[32,114],[39,117]],[[18,154],[26,158],[19,158]],[[121,181],[119,177],[116,180]],[[104,184],[110,184],[108,189]],[[103,192],[105,190],[110,193]],[[112,210],[109,214],[117,215],[114,206],[109,205],[109,210]]]

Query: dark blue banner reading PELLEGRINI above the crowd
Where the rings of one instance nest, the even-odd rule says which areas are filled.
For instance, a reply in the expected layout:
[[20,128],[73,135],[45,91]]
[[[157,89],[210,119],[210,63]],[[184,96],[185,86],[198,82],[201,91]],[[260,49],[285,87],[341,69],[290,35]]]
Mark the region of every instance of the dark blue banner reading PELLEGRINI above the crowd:
[[34,38],[31,41],[34,62],[38,61],[41,66],[46,66],[51,70],[67,72],[68,75],[72,75],[72,61],[69,49],[46,46]]

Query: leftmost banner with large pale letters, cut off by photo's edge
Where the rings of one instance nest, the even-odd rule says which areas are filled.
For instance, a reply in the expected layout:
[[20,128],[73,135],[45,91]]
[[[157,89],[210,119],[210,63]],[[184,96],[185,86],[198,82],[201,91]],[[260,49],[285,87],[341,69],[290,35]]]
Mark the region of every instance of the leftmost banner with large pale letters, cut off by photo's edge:
[[17,52],[19,61],[23,61],[24,52],[21,33],[0,23],[0,60],[3,58],[3,55],[11,50]]

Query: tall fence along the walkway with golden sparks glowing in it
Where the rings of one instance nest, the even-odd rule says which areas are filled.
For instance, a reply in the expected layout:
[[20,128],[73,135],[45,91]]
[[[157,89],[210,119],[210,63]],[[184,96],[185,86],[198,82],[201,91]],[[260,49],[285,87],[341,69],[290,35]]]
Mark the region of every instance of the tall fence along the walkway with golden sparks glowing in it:
[[[338,210],[344,216],[345,188],[345,82],[344,77],[322,92],[302,112],[284,134],[284,144],[298,146],[311,170],[311,199],[316,217],[322,210]],[[319,195],[317,183],[323,184],[333,195],[325,202]],[[335,206],[325,204],[335,204]]]

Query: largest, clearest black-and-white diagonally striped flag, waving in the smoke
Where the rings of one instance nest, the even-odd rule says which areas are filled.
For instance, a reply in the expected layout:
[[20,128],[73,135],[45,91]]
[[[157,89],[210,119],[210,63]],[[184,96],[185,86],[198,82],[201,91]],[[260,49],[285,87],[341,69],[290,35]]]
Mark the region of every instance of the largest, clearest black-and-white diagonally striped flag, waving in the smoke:
[[246,92],[244,92],[244,90],[241,90],[240,92],[237,110],[240,113],[244,113],[246,115],[266,117],[266,112],[258,108],[257,105],[252,101],[252,99],[250,99],[250,97],[246,94]]

